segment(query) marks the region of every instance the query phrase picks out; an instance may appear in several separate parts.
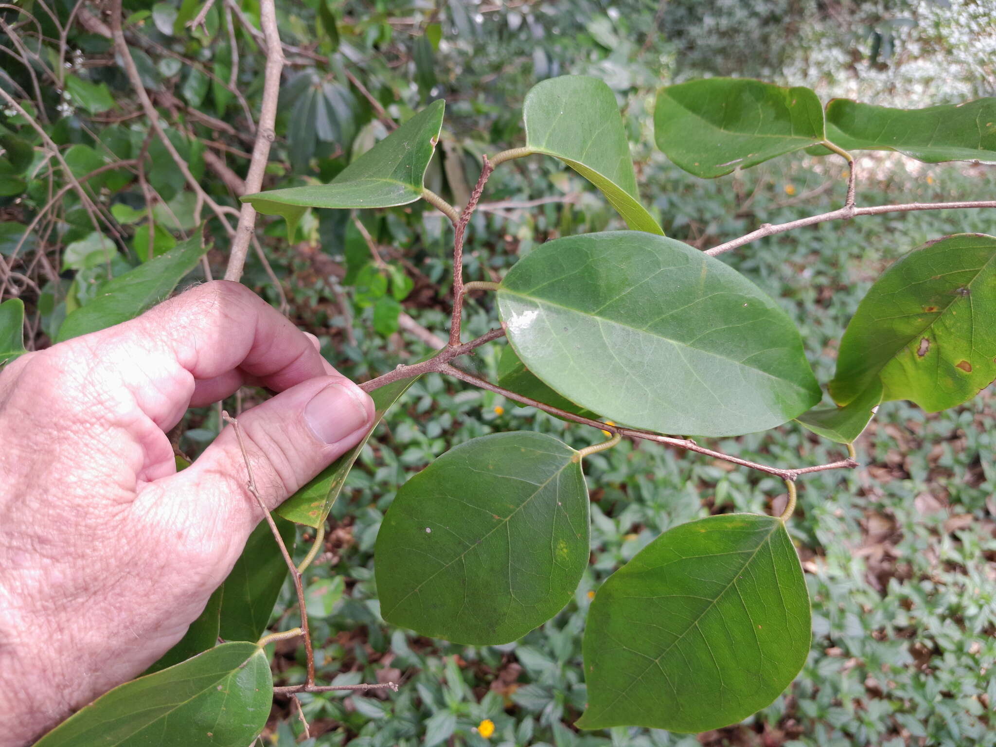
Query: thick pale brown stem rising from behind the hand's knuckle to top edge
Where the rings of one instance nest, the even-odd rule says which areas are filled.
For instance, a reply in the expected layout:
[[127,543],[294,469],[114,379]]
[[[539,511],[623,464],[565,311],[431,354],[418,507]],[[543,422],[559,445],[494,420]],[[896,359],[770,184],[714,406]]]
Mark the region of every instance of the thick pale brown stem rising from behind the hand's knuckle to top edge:
[[[274,0],[260,0],[259,20],[263,27],[266,45],[266,70],[263,78],[263,104],[256,125],[256,142],[246,174],[246,193],[258,192],[263,187],[263,174],[270,159],[270,145],[277,134],[274,129],[277,121],[277,99],[280,94],[280,74],[284,70],[284,51],[280,46],[280,32],[277,28],[277,11]],[[249,241],[256,230],[256,208],[250,203],[242,203],[239,225],[228,255],[225,280],[238,282],[242,278]]]

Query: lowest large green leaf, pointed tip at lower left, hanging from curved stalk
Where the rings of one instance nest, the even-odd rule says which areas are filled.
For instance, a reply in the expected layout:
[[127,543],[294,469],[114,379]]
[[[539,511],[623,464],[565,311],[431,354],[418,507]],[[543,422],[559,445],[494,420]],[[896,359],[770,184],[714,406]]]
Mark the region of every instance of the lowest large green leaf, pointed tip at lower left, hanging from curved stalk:
[[810,649],[784,523],[731,514],[665,532],[596,592],[583,648],[583,729],[698,732],[764,708]]

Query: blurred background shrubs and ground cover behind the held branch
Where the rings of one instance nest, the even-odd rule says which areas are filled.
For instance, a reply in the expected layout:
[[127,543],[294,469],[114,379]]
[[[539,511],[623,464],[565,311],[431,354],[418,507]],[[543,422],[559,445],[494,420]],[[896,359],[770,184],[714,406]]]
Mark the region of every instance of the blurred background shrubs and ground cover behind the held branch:
[[[441,97],[443,157],[429,165],[426,184],[462,202],[483,149],[522,141],[528,88],[586,73],[609,83],[623,106],[644,203],[669,236],[707,247],[760,222],[839,204],[841,167],[790,165],[785,158],[715,181],[694,179],[652,152],[656,86],[714,73],[759,75],[814,86],[824,99],[860,95],[893,106],[993,95],[996,33],[988,6],[574,0],[565,12],[552,0],[282,3],[290,65],[265,185],[327,181],[394,123]],[[254,4],[219,3],[193,30],[185,24],[198,3],[124,7],[131,54],[171,142],[213,199],[236,206],[262,85],[263,57],[249,30],[258,25]],[[198,214],[211,214],[150,135],[99,4],[26,2],[20,10],[0,9],[0,18],[0,87],[42,125],[94,203],[88,209],[53,155],[32,148],[41,144],[38,133],[5,109],[0,300],[24,302],[31,350],[61,337],[68,313],[96,304],[109,276],[174,246],[183,251]],[[910,165],[873,154],[862,156],[862,166],[860,203],[971,198],[996,187],[991,170],[964,164]],[[523,206],[551,193],[558,201]],[[487,199],[468,235],[468,279],[497,280],[548,239],[622,227],[603,198],[553,158],[501,169]],[[992,232],[990,224],[981,211],[870,217],[769,238],[723,260],[779,302],[802,331],[818,377],[829,380],[836,341],[892,260],[952,225]],[[428,352],[424,330],[445,335],[439,299],[449,280],[440,216],[420,207],[362,218],[309,211],[289,242],[282,221],[264,226],[279,284],[253,255],[245,282],[318,334],[344,373],[382,373]],[[208,265],[219,274],[227,239],[215,219],[208,232],[215,239]],[[470,333],[486,331],[487,303],[469,302]],[[101,311],[99,304],[91,308]],[[499,351],[478,357],[492,379]],[[254,394],[241,399],[249,406]],[[302,696],[312,722],[306,743],[481,745],[486,740],[475,728],[489,718],[496,729],[487,741],[508,745],[994,744],[993,409],[991,390],[934,415],[887,403],[859,444],[867,466],[806,478],[790,530],[814,600],[814,647],[793,687],[771,707],[744,725],[697,738],[640,729],[578,733],[570,724],[586,700],[580,662],[589,592],[660,532],[709,513],[764,512],[781,484],[659,448],[624,444],[594,455],[586,465],[593,562],[564,612],[503,646],[412,636],[380,621],[373,577],[373,543],[406,476],[447,445],[496,430],[534,429],[576,447],[598,438],[428,374],[360,453],[332,508],[326,552],[307,578],[320,677],[400,678],[402,686],[383,697]],[[195,455],[218,427],[215,410],[192,412],[180,448]],[[795,425],[721,440],[720,447],[772,463],[837,454]],[[299,556],[307,544],[299,542]],[[272,629],[297,624],[291,590],[285,585],[280,594]],[[275,679],[300,681],[297,642],[276,646]],[[278,701],[264,740],[294,744],[300,730]]]

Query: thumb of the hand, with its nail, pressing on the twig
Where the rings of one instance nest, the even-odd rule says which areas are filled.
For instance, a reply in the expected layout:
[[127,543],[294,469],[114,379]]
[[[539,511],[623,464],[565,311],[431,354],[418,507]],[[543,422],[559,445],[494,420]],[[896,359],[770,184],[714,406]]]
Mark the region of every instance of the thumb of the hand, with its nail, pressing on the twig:
[[245,517],[251,528],[260,514],[247,488],[247,461],[272,510],[356,446],[373,423],[373,409],[370,395],[348,378],[311,378],[243,412],[241,444],[229,425],[176,477],[193,480],[195,492],[230,500],[230,515]]

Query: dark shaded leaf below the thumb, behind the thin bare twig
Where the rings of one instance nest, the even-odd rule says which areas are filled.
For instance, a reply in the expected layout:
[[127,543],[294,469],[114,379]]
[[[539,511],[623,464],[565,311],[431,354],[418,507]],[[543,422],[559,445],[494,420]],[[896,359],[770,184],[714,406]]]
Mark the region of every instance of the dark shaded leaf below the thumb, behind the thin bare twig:
[[[288,552],[294,552],[297,528],[274,517]],[[287,578],[287,563],[273,532],[261,521],[225,579],[218,634],[226,640],[258,640],[270,624],[273,606]]]

